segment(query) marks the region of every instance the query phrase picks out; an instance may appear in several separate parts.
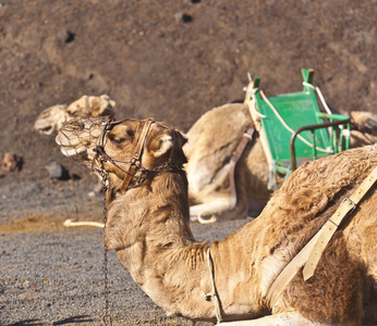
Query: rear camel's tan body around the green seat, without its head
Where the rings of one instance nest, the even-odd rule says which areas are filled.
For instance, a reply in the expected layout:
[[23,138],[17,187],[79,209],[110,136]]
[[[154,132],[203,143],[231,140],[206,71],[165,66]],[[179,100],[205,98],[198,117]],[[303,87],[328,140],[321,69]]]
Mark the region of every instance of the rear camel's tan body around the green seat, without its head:
[[[351,112],[351,118],[350,148],[377,141],[376,115]],[[234,103],[208,111],[188,130],[184,152],[188,158],[186,172],[192,221],[211,215],[218,218],[257,216],[266,205],[271,195],[267,189],[270,173],[259,136],[254,134],[235,168],[238,202],[234,209],[230,208],[230,158],[250,125],[248,105]],[[284,177],[278,174],[278,187],[283,181]]]

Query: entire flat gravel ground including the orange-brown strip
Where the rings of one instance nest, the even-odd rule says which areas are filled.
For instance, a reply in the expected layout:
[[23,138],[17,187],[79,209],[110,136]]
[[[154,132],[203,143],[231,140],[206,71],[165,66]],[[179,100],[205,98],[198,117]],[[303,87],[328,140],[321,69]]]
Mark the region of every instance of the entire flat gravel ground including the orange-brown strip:
[[[5,175],[11,178],[11,174]],[[17,176],[22,178],[22,174]],[[101,222],[97,178],[27,178],[0,187],[0,325],[99,325],[104,315],[102,230],[65,228],[66,218]],[[248,221],[193,224],[198,241],[221,239]],[[167,317],[108,253],[113,325],[212,325]]]

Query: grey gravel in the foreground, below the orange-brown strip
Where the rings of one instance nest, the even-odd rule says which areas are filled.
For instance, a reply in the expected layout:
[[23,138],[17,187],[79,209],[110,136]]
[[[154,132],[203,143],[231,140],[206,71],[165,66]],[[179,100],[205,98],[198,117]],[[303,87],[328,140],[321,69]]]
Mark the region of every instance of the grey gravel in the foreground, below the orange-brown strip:
[[[246,223],[193,225],[197,240],[220,239]],[[69,228],[0,235],[1,325],[99,325],[104,314],[102,231]],[[167,317],[108,254],[113,325],[212,325]]]

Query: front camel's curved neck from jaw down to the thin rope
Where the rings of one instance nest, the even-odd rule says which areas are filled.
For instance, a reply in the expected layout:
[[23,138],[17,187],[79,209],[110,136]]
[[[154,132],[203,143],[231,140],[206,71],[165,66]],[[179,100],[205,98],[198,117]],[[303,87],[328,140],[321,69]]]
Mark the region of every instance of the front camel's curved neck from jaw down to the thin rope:
[[200,297],[210,291],[208,246],[192,235],[186,193],[175,189],[171,200],[171,188],[160,193],[154,184],[134,190],[109,205],[107,236],[111,246],[117,243],[119,260],[170,314],[215,318],[212,302]]

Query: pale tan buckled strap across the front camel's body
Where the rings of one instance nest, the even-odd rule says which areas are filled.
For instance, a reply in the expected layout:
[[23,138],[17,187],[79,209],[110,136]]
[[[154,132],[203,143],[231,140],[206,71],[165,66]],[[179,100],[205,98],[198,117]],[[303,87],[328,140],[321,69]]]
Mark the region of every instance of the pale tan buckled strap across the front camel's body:
[[314,275],[318,261],[345,215],[355,209],[355,205],[362,200],[365,193],[372,188],[377,178],[377,166],[367,176],[366,179],[353,192],[350,199],[344,199],[335,214],[325,223],[320,230],[312,238],[309,242],[295,255],[295,258],[279,274],[271,287],[269,288],[266,302],[272,308],[280,298],[288,284],[296,275],[299,269],[306,263],[304,268],[304,279]]

